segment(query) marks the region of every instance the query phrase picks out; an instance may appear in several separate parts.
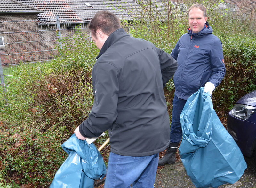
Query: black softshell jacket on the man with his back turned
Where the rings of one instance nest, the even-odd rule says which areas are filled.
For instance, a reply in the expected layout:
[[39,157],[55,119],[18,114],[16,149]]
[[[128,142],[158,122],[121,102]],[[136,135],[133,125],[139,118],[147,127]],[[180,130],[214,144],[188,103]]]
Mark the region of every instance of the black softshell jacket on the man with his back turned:
[[79,128],[84,137],[108,130],[111,152],[149,156],[170,142],[170,121],[163,87],[177,61],[149,41],[124,29],[110,34],[97,57],[92,82],[94,104]]

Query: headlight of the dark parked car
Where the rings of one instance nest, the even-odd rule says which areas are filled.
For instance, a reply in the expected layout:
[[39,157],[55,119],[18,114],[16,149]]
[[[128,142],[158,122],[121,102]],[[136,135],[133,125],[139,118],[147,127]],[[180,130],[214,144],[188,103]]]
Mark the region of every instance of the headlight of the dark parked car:
[[244,104],[235,104],[234,108],[231,111],[231,114],[239,119],[247,120],[253,114],[256,113],[256,107],[244,105]]

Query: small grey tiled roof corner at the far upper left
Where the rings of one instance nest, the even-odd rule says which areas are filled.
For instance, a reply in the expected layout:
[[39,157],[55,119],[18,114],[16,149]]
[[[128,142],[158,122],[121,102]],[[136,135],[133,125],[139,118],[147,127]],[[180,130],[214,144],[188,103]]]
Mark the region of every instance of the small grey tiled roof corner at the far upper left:
[[1,0],[0,14],[2,13],[41,13],[43,11],[15,0]]

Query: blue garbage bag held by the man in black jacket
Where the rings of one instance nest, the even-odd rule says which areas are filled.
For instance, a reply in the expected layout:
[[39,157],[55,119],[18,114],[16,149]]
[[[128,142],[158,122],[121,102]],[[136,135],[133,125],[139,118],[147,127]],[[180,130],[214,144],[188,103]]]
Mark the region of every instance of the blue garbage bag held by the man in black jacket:
[[106,175],[106,165],[97,147],[73,134],[61,147],[68,158],[56,172],[50,188],[93,188],[95,179]]

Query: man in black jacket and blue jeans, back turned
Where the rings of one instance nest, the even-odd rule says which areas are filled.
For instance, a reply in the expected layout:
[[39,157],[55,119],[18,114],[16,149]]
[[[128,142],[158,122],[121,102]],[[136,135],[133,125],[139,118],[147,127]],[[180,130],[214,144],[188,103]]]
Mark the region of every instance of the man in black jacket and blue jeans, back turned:
[[163,87],[177,61],[149,41],[129,36],[111,12],[99,11],[89,29],[100,49],[92,70],[94,104],[75,134],[108,130],[111,152],[105,187],[154,187],[159,152],[170,142]]

